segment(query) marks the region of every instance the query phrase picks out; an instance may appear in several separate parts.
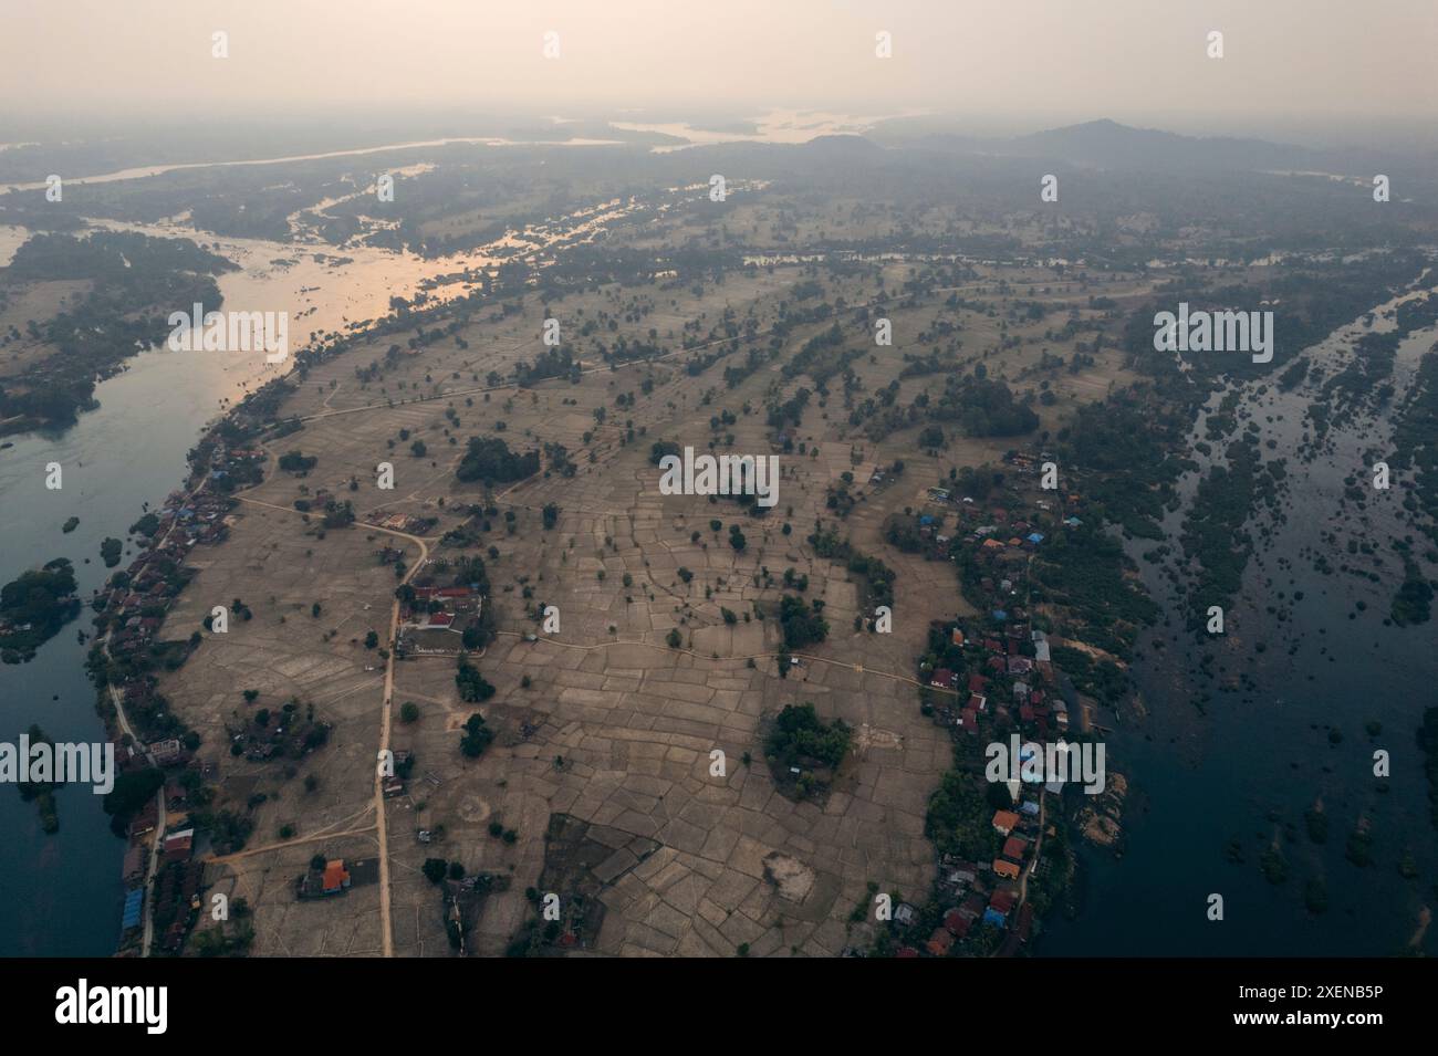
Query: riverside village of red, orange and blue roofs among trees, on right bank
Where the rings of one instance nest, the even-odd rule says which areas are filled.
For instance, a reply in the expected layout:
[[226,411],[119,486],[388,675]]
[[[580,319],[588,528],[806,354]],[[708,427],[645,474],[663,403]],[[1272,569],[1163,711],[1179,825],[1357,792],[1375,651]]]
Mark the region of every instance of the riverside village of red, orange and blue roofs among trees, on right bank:
[[[972,795],[955,797],[958,813],[945,819],[965,832],[962,851],[945,849],[942,835],[930,830],[939,846],[930,899],[893,909],[892,937],[880,948],[887,951],[892,942],[897,957],[1017,955],[1034,935],[1035,902],[1047,909],[1073,869],[1063,829],[1081,813],[1078,784],[1021,780],[1017,773],[994,783],[985,776],[981,747],[1007,747],[1017,734],[1025,751],[1041,756],[1071,733],[1091,737],[1100,730],[1054,665],[1044,629],[1051,628],[1053,613],[1035,606],[1030,580],[1045,540],[1083,526],[1080,494],[1034,487],[1050,458],[1011,451],[999,474],[1004,484],[991,493],[975,497],[961,484],[930,487],[923,511],[913,516],[917,546],[932,560],[955,562],[965,598],[979,615],[935,622],[919,662],[922,708],[949,730],[953,780]],[[984,474],[988,467],[965,476],[988,488],[995,477]],[[985,853],[975,856],[978,849]]]

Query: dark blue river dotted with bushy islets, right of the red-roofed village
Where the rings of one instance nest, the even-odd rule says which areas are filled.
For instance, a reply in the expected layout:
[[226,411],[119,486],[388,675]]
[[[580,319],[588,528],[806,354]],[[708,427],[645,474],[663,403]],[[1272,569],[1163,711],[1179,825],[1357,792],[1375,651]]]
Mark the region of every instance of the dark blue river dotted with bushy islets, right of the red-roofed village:
[[[1375,310],[1380,315],[1393,303]],[[1379,318],[1372,329],[1391,328]],[[1332,375],[1334,365],[1352,358],[1352,342],[1363,332],[1355,323],[1304,355],[1327,365]],[[1399,394],[1434,339],[1429,329],[1401,345],[1393,371]],[[1191,698],[1201,649],[1183,629],[1185,609],[1171,582],[1139,560],[1145,583],[1172,625],[1139,639],[1133,677],[1148,718],[1109,738],[1110,766],[1130,779],[1133,790],[1125,819],[1127,846],[1122,861],[1081,851],[1080,915],[1071,921],[1055,915],[1048,922],[1043,954],[1391,955],[1409,947],[1425,907],[1438,897],[1438,840],[1414,737],[1438,684],[1434,625],[1383,626],[1402,578],[1386,545],[1391,536],[1412,530],[1399,527],[1398,487],[1372,493],[1362,517],[1352,503],[1346,511],[1339,509],[1345,476],[1370,481],[1369,448],[1383,451],[1392,437],[1388,414],[1360,415],[1333,428],[1324,451],[1306,464],[1300,457],[1304,408],[1314,386],[1278,392],[1268,385],[1261,395],[1260,388],[1244,386],[1240,428],[1258,424],[1263,458],[1287,460],[1288,487],[1280,516],[1264,510],[1250,519],[1255,539],[1261,529],[1271,536],[1250,560],[1242,598],[1228,613],[1227,648],[1217,649],[1227,668],[1221,675],[1235,680],[1244,672],[1251,684],[1241,693],[1215,694],[1205,704],[1206,715],[1198,713]],[[1201,420],[1194,440],[1202,435]],[[1227,441],[1214,444],[1212,458],[1198,453],[1194,458],[1206,471],[1225,447]],[[1183,509],[1165,524],[1173,540],[1196,481],[1195,473],[1181,481]],[[1329,533],[1337,533],[1337,546],[1324,540]],[[1314,569],[1316,555],[1329,555],[1334,566],[1356,565],[1346,552],[1350,537],[1382,543],[1386,570],[1380,583]],[[1129,550],[1137,559],[1150,546],[1140,542]],[[1299,602],[1296,592],[1303,592]],[[1366,611],[1357,611],[1357,602]],[[1287,618],[1280,621],[1270,606]],[[1168,639],[1162,651],[1153,648],[1159,636]],[[1369,721],[1382,723],[1382,733],[1370,737]],[[1340,743],[1330,743],[1329,727],[1340,731]],[[1386,792],[1373,776],[1379,749],[1392,759]],[[1324,843],[1311,842],[1304,825],[1304,812],[1317,800],[1329,819]],[[1345,856],[1360,819],[1372,836],[1373,863],[1366,868]],[[1235,838],[1242,863],[1227,861]],[[1258,865],[1274,839],[1287,862],[1281,885],[1270,884]],[[1405,852],[1416,862],[1416,879],[1398,871]],[[1304,907],[1310,878],[1327,888],[1329,908],[1322,915]],[[1208,918],[1212,894],[1224,898],[1222,921]],[[1432,931],[1419,947],[1429,955],[1438,953]]]

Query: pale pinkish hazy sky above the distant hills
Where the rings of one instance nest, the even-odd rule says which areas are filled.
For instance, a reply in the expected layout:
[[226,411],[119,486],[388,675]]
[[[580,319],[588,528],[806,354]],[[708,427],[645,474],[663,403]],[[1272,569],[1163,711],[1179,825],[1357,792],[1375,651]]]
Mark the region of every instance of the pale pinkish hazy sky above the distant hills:
[[0,99],[37,118],[812,106],[1240,132],[1438,114],[1434,0],[0,0]]

